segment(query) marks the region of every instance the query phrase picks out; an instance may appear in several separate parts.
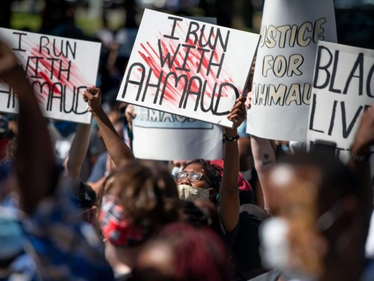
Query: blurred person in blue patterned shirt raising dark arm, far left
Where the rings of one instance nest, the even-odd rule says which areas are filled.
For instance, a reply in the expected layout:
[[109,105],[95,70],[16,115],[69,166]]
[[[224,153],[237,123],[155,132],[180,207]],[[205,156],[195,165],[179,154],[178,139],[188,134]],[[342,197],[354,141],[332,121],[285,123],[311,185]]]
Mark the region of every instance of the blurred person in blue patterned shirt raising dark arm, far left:
[[113,280],[95,229],[76,216],[73,185],[58,181],[47,122],[25,71],[2,43],[0,79],[20,105],[12,169],[9,162],[0,169],[0,278]]

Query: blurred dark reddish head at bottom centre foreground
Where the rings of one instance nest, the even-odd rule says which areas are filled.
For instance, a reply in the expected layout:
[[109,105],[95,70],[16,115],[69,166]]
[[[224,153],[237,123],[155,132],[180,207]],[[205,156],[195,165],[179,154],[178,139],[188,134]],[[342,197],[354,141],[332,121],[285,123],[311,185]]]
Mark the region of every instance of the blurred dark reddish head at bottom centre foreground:
[[206,227],[171,223],[143,247],[132,281],[229,281],[227,249]]

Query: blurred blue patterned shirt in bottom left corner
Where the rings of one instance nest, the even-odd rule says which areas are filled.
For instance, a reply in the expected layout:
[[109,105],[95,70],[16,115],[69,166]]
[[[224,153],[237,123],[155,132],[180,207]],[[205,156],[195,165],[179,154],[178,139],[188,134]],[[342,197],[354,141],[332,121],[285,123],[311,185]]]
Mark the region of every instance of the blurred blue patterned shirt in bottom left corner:
[[93,226],[77,216],[70,194],[69,185],[62,184],[30,216],[19,212],[26,254],[18,262],[25,275],[20,280],[114,280],[104,244]]

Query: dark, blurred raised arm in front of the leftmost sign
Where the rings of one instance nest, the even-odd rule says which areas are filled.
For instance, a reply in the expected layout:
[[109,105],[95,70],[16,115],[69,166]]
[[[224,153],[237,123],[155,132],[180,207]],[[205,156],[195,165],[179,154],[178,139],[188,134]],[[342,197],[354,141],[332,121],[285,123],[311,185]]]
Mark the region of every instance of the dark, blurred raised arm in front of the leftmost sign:
[[0,79],[18,95],[18,147],[15,171],[21,207],[32,212],[36,204],[55,189],[57,168],[47,121],[41,115],[34,90],[11,50],[0,43]]

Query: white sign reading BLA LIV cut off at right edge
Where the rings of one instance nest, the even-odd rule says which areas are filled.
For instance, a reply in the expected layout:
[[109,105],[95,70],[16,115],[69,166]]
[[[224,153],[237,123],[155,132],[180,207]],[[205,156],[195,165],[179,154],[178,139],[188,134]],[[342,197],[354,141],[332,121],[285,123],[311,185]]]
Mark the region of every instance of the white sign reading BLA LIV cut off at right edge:
[[337,144],[347,162],[363,111],[374,103],[374,51],[319,42],[309,109],[308,143]]

